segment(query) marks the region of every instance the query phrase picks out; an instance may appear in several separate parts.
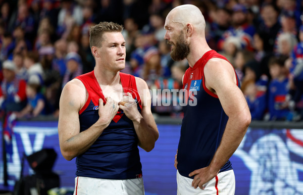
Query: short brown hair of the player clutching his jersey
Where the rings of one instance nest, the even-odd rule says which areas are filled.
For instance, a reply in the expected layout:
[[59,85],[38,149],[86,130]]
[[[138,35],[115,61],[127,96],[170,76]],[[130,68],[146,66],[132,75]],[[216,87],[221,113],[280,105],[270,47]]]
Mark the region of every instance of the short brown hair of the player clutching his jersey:
[[123,26],[114,22],[100,22],[89,28],[89,47],[100,47],[105,32],[122,32]]

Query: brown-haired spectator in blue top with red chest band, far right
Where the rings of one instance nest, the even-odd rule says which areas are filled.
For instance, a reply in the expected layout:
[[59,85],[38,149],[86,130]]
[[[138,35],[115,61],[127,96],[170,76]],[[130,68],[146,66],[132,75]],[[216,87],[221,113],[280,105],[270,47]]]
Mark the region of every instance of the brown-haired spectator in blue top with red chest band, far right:
[[272,80],[269,84],[269,119],[286,120],[290,111],[286,102],[288,94],[288,78],[284,67],[285,58],[273,57],[269,62]]

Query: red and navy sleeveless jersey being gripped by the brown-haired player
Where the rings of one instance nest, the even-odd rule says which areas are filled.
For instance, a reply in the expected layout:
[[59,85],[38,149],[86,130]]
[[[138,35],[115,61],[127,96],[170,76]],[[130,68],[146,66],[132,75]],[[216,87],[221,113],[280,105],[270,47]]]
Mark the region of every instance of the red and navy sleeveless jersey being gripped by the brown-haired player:
[[[98,120],[98,100],[101,98],[105,103],[106,99],[94,71],[76,78],[82,81],[88,91],[88,99],[79,111],[82,132]],[[141,112],[141,100],[135,77],[120,72],[120,80],[124,94],[127,92],[132,94]],[[76,165],[77,176],[102,179],[132,179],[142,176],[138,137],[133,122],[121,109],[91,147],[77,157]]]

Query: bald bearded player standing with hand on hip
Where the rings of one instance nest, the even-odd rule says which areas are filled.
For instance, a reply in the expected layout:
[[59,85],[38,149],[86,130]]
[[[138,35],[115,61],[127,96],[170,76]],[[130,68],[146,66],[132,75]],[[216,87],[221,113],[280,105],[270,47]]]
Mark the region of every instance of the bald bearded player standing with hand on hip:
[[189,63],[183,76],[187,106],[175,156],[178,194],[234,194],[229,158],[251,120],[239,79],[227,59],[209,47],[197,7],[174,8],[164,28],[172,59]]

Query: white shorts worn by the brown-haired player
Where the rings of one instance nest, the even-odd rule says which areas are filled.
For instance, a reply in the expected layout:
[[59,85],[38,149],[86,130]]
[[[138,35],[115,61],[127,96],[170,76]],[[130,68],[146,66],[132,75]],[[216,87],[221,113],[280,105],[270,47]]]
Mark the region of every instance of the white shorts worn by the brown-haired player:
[[74,195],[142,195],[144,194],[143,178],[135,179],[98,179],[76,177]]

